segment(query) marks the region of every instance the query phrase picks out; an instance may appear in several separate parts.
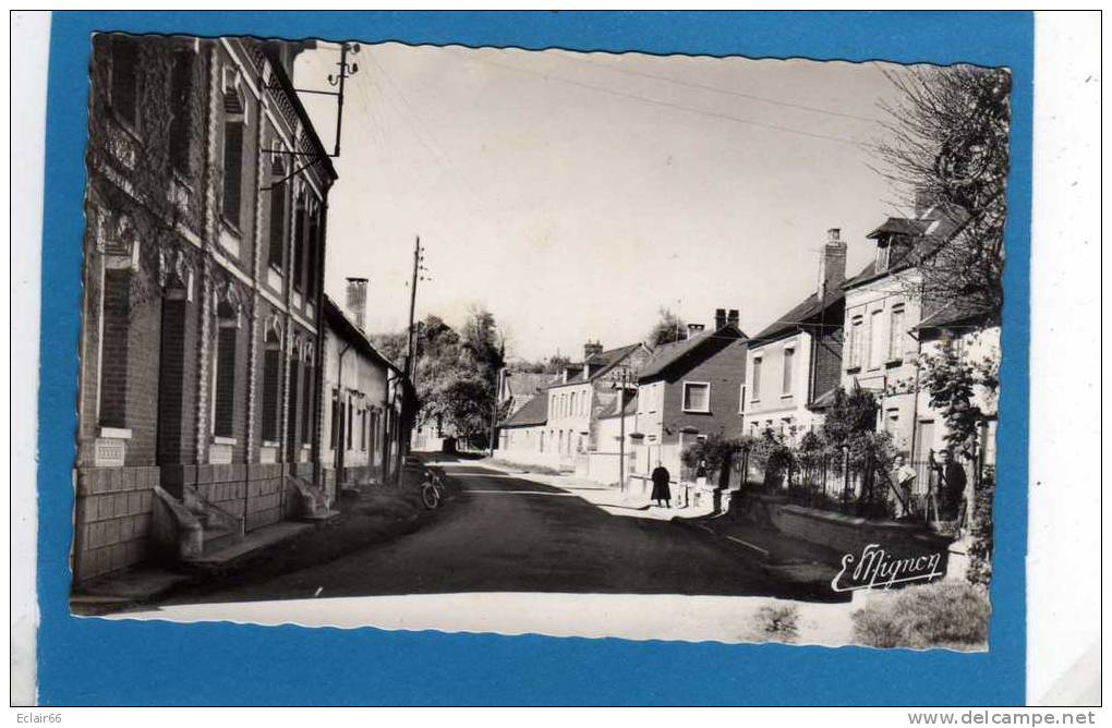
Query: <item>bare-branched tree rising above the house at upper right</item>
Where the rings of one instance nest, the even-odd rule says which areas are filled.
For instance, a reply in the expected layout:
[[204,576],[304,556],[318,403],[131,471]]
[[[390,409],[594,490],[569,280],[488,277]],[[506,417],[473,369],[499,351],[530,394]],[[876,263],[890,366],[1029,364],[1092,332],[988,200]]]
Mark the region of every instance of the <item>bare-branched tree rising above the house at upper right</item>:
[[900,99],[884,104],[887,141],[878,171],[967,219],[923,261],[929,303],[961,300],[999,322],[1009,170],[1011,73],[972,66],[885,71]]

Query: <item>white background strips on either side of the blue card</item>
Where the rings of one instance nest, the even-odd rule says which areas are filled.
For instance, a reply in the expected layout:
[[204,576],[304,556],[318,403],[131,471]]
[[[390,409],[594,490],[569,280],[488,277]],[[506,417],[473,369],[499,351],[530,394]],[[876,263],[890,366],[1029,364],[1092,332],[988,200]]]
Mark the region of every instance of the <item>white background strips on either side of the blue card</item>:
[[[1100,22],[1093,13],[1040,13],[1036,18],[1027,695],[1032,704],[1043,705],[1092,705],[1100,699],[1104,510],[1103,367],[1096,366],[1103,330],[1099,321],[1104,311],[1098,167],[1098,160],[1103,162]],[[34,437],[48,34],[48,19],[26,12],[12,16],[11,164],[13,176],[18,170],[19,185],[11,190],[11,308],[8,302],[3,306],[11,325],[6,346],[11,347],[12,366],[14,510],[9,516],[14,705],[32,699],[33,685],[28,668],[33,666],[29,640],[34,618]],[[19,316],[12,318],[11,310]],[[854,712],[855,726],[906,721],[906,711]],[[93,718],[88,711],[80,716]],[[120,715],[97,717],[97,722],[121,719]],[[759,724],[759,717],[754,717]],[[514,720],[510,715],[505,718]],[[833,718],[841,724],[851,716],[835,714]],[[14,722],[16,717],[10,719]],[[831,719],[830,714],[822,714],[822,719]]]

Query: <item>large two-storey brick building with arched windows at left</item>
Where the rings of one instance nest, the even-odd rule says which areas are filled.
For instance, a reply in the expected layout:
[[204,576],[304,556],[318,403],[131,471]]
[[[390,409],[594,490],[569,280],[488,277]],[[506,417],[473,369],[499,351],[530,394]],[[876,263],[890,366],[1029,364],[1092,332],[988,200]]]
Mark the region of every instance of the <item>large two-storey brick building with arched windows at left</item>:
[[304,46],[98,34],[75,582],[319,499],[325,215]]

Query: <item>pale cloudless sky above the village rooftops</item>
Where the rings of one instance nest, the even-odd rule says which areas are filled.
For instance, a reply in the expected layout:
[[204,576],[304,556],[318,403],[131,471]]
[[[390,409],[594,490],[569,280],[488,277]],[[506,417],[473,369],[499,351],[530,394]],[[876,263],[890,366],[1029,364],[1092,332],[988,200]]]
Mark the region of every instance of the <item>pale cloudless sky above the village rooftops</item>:
[[[328,89],[338,47],[302,53]],[[668,308],[754,335],[814,290],[827,228],[865,235],[900,193],[870,164],[896,92],[873,63],[361,46],[349,57],[325,290],[369,279],[367,329],[494,313],[513,358],[643,340]],[[304,94],[325,146],[331,97]]]

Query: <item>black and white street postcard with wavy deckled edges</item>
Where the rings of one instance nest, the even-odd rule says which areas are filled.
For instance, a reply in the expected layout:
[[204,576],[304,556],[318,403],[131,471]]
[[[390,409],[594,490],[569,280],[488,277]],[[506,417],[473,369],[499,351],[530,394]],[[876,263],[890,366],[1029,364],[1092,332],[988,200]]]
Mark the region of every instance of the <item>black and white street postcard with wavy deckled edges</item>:
[[990,648],[1007,68],[90,43],[72,614]]

